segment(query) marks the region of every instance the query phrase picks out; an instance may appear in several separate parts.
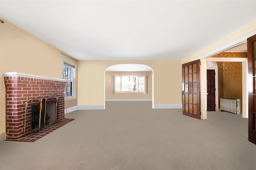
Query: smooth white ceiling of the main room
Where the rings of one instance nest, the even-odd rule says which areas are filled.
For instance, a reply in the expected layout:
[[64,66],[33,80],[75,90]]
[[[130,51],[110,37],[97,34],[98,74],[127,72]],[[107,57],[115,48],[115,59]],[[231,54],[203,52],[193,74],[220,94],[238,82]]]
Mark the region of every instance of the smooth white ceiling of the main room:
[[78,60],[172,60],[256,19],[256,1],[1,0],[0,16]]

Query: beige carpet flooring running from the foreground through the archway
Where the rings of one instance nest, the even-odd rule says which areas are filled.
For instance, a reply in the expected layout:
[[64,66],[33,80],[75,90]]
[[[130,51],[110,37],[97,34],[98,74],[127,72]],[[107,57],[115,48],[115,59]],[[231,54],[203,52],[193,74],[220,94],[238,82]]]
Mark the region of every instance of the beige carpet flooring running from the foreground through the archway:
[[75,120],[34,143],[2,141],[0,169],[256,169],[256,145],[210,116],[198,120],[182,109],[152,109],[151,102],[106,102],[105,110],[67,117]]

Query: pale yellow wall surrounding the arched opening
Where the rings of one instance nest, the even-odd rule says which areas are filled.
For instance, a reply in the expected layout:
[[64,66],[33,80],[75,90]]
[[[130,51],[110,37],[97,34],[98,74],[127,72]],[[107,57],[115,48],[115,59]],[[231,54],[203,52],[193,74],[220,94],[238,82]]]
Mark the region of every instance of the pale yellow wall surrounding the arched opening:
[[145,64],[154,72],[154,104],[181,104],[181,61],[79,61],[78,106],[104,105],[105,70],[114,64]]

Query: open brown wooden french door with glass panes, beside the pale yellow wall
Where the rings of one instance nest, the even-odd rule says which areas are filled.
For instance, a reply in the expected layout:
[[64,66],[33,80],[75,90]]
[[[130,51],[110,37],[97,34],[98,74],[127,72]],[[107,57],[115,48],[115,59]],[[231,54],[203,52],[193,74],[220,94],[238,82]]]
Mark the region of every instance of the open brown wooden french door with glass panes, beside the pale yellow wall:
[[200,60],[182,64],[182,112],[200,119]]

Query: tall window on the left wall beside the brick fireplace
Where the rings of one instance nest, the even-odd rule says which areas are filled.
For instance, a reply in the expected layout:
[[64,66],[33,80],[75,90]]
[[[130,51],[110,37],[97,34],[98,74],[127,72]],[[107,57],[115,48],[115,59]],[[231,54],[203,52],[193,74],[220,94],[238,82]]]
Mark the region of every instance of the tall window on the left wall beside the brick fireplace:
[[75,79],[75,65],[74,63],[64,61],[63,64],[63,78],[67,80],[65,96],[74,97],[74,79]]

